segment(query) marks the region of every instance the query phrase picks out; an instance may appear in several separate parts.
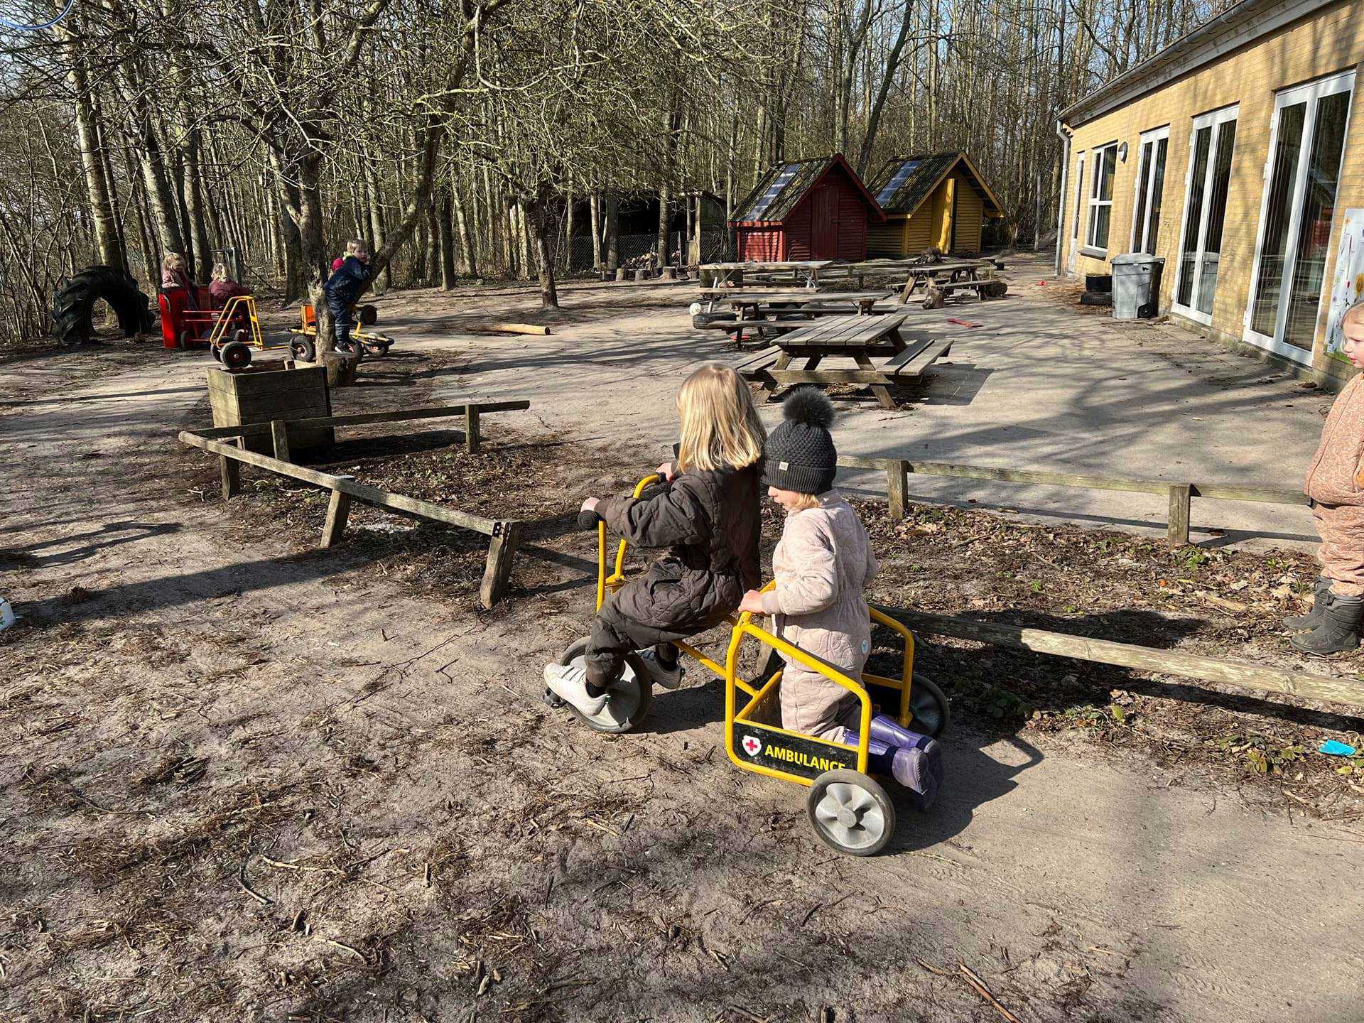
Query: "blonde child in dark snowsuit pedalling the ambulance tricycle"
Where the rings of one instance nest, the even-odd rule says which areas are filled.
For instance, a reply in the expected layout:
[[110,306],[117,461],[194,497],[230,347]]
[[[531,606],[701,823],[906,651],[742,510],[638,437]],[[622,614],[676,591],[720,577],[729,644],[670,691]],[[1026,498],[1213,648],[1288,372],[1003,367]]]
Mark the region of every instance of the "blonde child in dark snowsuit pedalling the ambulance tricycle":
[[582,657],[547,664],[550,692],[580,715],[600,715],[625,674],[625,657],[641,660],[652,682],[682,681],[675,640],[712,629],[758,585],[760,462],[765,431],[747,385],[734,370],[708,363],[678,391],[681,443],[677,465],[642,498],[588,498],[595,512],[632,544],[666,548],[641,578],[611,595],[596,618]]

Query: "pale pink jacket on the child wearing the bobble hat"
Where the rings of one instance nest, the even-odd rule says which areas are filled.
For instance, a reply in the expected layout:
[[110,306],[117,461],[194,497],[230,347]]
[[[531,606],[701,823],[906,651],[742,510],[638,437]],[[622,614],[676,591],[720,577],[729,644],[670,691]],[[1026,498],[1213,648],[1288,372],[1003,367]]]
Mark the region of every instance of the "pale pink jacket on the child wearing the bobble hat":
[[783,640],[857,678],[872,645],[862,587],[876,569],[862,520],[831,490],[818,507],[787,516],[772,554],[776,589],[762,595],[762,610]]

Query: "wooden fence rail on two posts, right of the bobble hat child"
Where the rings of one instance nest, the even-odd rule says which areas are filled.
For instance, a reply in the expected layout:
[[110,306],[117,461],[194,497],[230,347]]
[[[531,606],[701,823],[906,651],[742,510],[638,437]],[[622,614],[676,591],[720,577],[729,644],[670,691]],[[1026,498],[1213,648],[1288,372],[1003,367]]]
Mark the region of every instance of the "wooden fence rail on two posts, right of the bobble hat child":
[[1076,487],[1080,490],[1118,490],[1129,494],[1165,494],[1170,514],[1166,536],[1170,544],[1183,547],[1189,542],[1189,518],[1194,498],[1218,501],[1254,501],[1269,505],[1309,506],[1305,494],[1274,487],[1243,487],[1226,483],[1170,483],[1169,480],[1139,480],[1116,476],[1082,476],[1071,472],[1041,472],[1034,469],[996,469],[985,465],[953,465],[951,462],[915,462],[907,458],[862,458],[842,456],[839,468],[878,469],[885,472],[885,491],[891,501],[891,518],[904,518],[910,473],[919,476],[953,476],[989,483],[1019,483],[1043,487]]

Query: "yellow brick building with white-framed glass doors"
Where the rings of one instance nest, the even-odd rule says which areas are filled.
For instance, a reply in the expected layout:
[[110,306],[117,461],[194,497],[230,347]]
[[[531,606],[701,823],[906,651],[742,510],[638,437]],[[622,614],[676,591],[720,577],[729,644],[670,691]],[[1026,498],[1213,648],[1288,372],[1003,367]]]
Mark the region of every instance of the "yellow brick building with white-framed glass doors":
[[1360,60],[1364,0],[1243,0],[1063,110],[1058,270],[1154,252],[1161,312],[1348,378],[1331,349],[1364,299]]

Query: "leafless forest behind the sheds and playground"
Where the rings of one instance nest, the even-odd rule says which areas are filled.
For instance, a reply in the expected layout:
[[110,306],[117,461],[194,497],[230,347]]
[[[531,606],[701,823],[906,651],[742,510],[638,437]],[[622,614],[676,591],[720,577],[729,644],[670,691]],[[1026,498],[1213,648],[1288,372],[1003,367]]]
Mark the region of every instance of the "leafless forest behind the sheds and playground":
[[5,336],[45,334],[93,263],[150,291],[166,251],[206,280],[235,250],[303,297],[351,236],[379,289],[539,276],[552,301],[567,237],[619,258],[619,196],[730,209],[772,161],[835,150],[966,149],[1000,240],[1027,241],[1054,216],[1057,110],[1228,5],[75,0],[0,34]]

